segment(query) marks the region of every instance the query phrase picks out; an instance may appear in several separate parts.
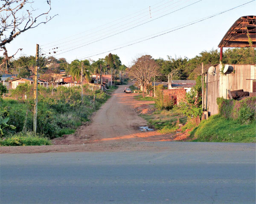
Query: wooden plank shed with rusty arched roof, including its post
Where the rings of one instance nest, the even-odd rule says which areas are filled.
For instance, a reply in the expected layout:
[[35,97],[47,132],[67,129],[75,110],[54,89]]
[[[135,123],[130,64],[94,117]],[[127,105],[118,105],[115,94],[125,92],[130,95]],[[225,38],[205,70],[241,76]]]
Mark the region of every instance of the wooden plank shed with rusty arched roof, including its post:
[[[250,37],[250,40],[249,40]],[[249,43],[250,41],[250,43]],[[227,31],[218,47],[250,47],[256,46],[256,16],[240,17]],[[232,71],[223,73],[225,65],[215,66],[215,71],[205,75],[206,93],[204,107],[210,115],[218,114],[217,98],[228,99],[228,90],[243,90],[253,93],[256,91],[256,65],[235,64],[229,65]]]

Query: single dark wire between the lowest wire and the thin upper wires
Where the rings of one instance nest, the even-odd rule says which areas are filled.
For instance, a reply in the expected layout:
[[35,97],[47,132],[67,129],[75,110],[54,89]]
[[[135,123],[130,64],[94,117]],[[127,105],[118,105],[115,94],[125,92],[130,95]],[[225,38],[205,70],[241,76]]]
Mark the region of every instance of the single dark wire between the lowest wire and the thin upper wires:
[[[198,2],[200,2],[200,1],[202,1],[202,0],[198,0],[198,1],[196,1],[195,3],[198,3]],[[99,42],[99,41],[101,41],[101,40],[105,40],[105,39],[107,39],[107,38],[109,38],[109,37],[113,37],[113,36],[115,36],[115,35],[117,35],[117,34],[123,33],[123,32],[125,32],[125,31],[131,30],[131,29],[133,29],[133,28],[137,28],[138,26],[142,26],[142,25],[144,25],[144,24],[146,24],[146,23],[152,22],[152,21],[157,20],[157,19],[159,19],[159,18],[161,18],[161,17],[164,17],[164,16],[166,16],[166,15],[172,14],[172,13],[174,13],[174,12],[176,12],[176,11],[180,11],[180,10],[183,9],[183,8],[187,8],[187,7],[189,7],[189,6],[194,5],[195,3],[192,3],[192,4],[189,4],[189,5],[184,6],[184,7],[182,7],[182,8],[179,8],[179,9],[177,9],[177,10],[175,10],[175,11],[169,12],[168,14],[164,14],[164,15],[162,15],[162,16],[160,16],[160,17],[157,17],[157,18],[154,18],[154,19],[152,19],[152,20],[149,20],[149,21],[147,21],[147,22],[145,22],[145,23],[141,23],[141,24],[139,24],[139,25],[137,25],[137,26],[134,26],[134,27],[132,27],[132,28],[128,28],[128,29],[126,29],[126,30],[124,30],[124,31],[120,31],[120,32],[118,32],[118,33],[116,33],[116,34],[113,34],[113,35],[104,37],[104,38],[102,38],[102,39],[100,39],[100,40],[96,40],[96,41],[87,43],[87,44],[85,44],[85,45],[81,45],[81,46],[79,46],[79,47],[76,47],[76,48],[70,49],[70,50],[68,50],[68,51],[64,51],[64,52],[55,54],[55,55],[53,55],[53,56],[56,56],[56,55],[59,55],[59,54],[63,54],[63,53],[69,52],[69,51],[73,51],[73,50],[75,50],[75,49],[78,49],[78,48],[81,48],[81,47],[90,45],[90,44],[95,43],[95,42]]]

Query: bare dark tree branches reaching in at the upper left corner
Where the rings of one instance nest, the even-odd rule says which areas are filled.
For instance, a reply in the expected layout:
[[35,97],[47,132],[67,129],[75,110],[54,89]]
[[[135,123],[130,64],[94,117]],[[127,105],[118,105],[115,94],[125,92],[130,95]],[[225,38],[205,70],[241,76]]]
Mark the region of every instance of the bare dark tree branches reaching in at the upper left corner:
[[[33,8],[33,3],[30,0],[1,0],[3,4],[0,6],[0,51],[3,51],[4,60],[0,64],[9,71],[7,64],[15,54],[22,48],[19,48],[15,54],[8,55],[6,44],[12,42],[21,33],[36,28],[42,23],[47,23],[54,17],[49,17],[51,10],[51,0],[47,0],[49,6],[44,13],[35,15],[37,9]],[[45,16],[44,21],[40,21],[41,17]]]

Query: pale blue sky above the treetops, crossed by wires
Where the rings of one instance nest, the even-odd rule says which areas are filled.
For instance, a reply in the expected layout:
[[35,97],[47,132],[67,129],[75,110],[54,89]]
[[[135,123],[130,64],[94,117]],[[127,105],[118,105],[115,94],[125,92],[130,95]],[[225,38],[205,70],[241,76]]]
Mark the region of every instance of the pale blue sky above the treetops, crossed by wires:
[[[247,3],[250,0],[52,0],[50,15],[58,14],[45,25],[26,31],[7,45],[9,54],[23,48],[20,55],[35,55],[39,44],[42,53],[55,55],[52,48],[58,47],[55,57],[68,61],[90,57],[92,60],[105,57],[114,48],[138,42],[137,39],[154,36],[165,30],[221,11]],[[195,3],[191,6],[188,6]],[[151,7],[151,16],[149,12]],[[187,6],[186,8],[183,8]],[[46,10],[46,1],[37,0],[37,12]],[[182,8],[182,9],[180,9]],[[179,11],[175,11],[180,9]],[[160,37],[111,51],[122,63],[130,65],[140,54],[150,54],[155,59],[172,57],[195,57],[201,51],[218,48],[224,34],[241,16],[255,15],[256,1],[236,8],[200,23],[181,28]],[[168,14],[173,12],[172,14]],[[160,17],[167,14],[164,17]],[[154,20],[155,18],[159,19]],[[149,23],[147,21],[153,20]],[[128,28],[138,26],[128,31]],[[124,31],[120,34],[118,32]],[[116,34],[112,37],[110,35]],[[101,40],[108,37],[104,40]],[[63,40],[62,40],[63,39]],[[94,42],[97,41],[98,42]],[[137,41],[136,41],[137,40]],[[90,45],[86,45],[91,43]],[[49,44],[51,43],[51,44]],[[86,45],[86,46],[82,46]],[[80,47],[81,48],[77,48]],[[77,48],[77,49],[74,49]],[[73,51],[70,51],[74,49]],[[66,51],[63,54],[62,52]],[[103,53],[104,54],[99,54]],[[99,54],[99,55],[96,55]],[[96,56],[93,56],[96,55]],[[88,59],[88,58],[87,58]]]

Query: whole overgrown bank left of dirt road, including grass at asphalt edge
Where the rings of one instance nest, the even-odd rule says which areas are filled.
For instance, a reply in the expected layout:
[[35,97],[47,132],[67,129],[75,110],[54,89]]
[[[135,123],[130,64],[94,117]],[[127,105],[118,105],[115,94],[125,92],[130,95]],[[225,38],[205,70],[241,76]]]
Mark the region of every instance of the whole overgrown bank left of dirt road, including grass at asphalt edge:
[[[108,93],[117,87],[112,87]],[[17,90],[16,90],[17,92]],[[0,104],[0,116],[9,117],[8,125],[16,128],[3,129],[0,145],[40,145],[50,144],[44,139],[53,139],[64,134],[74,133],[76,128],[84,122],[89,121],[94,111],[110,97],[108,93],[92,91],[89,87],[84,87],[83,102],[81,101],[81,89],[79,87],[57,89],[42,88],[38,90],[38,114],[37,133],[31,135],[33,129],[33,100],[32,87],[27,87],[25,91],[18,93],[17,100],[3,99]],[[15,93],[17,94],[17,93]],[[0,127],[1,128],[1,127]],[[17,133],[23,133],[22,135]],[[28,132],[28,133],[27,133]],[[34,138],[34,142],[32,141]],[[35,140],[41,141],[36,143]],[[18,142],[17,142],[18,141]]]

